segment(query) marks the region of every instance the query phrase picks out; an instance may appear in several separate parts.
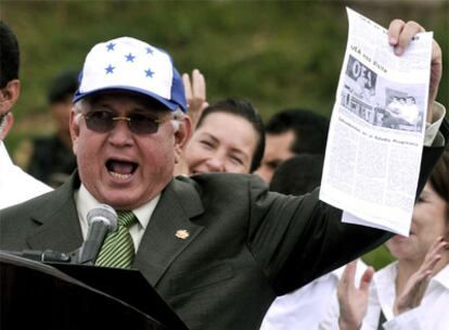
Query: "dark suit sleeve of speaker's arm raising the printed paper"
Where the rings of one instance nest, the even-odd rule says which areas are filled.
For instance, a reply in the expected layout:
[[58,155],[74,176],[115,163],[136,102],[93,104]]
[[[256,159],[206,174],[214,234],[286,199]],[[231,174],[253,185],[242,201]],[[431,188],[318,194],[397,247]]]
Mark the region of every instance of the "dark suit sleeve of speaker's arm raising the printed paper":
[[[440,129],[448,141],[448,125]],[[424,148],[421,193],[444,147]],[[278,295],[341,267],[388,240],[393,233],[343,224],[342,211],[319,201],[319,189],[304,196],[268,192],[253,179],[248,245]]]

